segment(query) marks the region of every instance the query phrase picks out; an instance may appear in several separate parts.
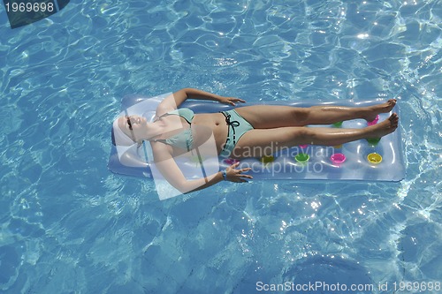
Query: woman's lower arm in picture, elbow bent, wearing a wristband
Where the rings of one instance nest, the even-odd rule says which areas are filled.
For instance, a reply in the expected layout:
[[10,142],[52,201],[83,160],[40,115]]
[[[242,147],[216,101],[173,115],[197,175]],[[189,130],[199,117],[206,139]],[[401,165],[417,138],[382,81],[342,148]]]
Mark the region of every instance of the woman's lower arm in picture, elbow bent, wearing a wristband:
[[[153,147],[155,165],[167,182],[179,190],[179,192],[187,193],[202,190],[224,180],[221,171],[207,177],[187,180],[182,171],[179,170],[177,162],[175,162],[169,151],[164,150],[164,148],[161,149],[161,147]],[[247,172],[250,168],[236,170],[235,168],[239,164],[237,162],[225,170],[226,180],[242,183],[247,182],[247,179],[253,178],[252,176],[242,174],[242,172]]]

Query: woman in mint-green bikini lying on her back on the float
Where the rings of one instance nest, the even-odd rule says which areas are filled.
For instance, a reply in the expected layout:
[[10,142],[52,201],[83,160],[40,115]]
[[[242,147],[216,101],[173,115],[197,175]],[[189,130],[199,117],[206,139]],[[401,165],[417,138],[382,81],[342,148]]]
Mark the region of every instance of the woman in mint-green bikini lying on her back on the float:
[[[187,99],[221,102],[235,106],[245,102],[193,88],[184,88],[170,95],[156,108],[156,119],[150,123],[144,117],[118,117],[114,136],[118,145],[149,140],[156,168],[180,192],[192,192],[215,185],[222,180],[246,182],[250,170],[237,169],[239,163],[204,178],[187,180],[173,160],[195,145],[194,128],[209,128],[213,132],[217,154],[235,159],[271,155],[278,148],[304,144],[335,146],[357,139],[380,138],[394,132],[399,117],[393,113],[379,124],[363,129],[307,128],[308,124],[333,124],[363,118],[372,121],[379,113],[390,112],[396,100],[369,107],[255,105],[220,113],[194,114],[191,109],[179,109]],[[192,128],[191,128],[192,127]],[[179,132],[177,132],[177,130]]]

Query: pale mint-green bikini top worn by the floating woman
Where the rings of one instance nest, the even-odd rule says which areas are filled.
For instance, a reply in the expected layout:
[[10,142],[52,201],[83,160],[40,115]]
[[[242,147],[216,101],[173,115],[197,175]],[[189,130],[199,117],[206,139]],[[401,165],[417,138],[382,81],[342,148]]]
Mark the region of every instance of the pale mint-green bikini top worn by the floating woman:
[[[179,116],[186,119],[188,124],[192,124],[192,120],[194,119],[194,111],[191,109],[175,109],[164,113],[161,117],[166,116]],[[160,117],[158,117],[160,118]],[[184,130],[183,132],[179,132],[176,135],[171,136],[167,139],[156,139],[156,142],[162,142],[164,144],[170,145],[172,147],[179,147],[181,149],[186,149],[190,151],[192,146],[194,145],[194,138],[192,137],[192,130],[189,128]]]

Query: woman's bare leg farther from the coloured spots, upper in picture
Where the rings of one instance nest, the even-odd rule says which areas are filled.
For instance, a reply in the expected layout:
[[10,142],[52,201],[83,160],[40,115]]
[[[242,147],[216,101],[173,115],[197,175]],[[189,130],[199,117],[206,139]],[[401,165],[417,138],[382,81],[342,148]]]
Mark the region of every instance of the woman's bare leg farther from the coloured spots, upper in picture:
[[390,112],[396,100],[368,107],[312,106],[299,108],[278,105],[255,105],[235,109],[255,129],[271,129],[308,124],[333,124],[336,122],[363,118],[375,119],[377,114]]

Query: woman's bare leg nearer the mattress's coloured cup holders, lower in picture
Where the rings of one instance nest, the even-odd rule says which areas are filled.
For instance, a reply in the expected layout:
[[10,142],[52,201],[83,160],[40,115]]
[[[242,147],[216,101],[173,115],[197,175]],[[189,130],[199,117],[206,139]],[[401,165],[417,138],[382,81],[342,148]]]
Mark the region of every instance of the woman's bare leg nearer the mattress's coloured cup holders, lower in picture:
[[271,155],[282,148],[299,145],[335,146],[357,139],[380,138],[394,132],[399,117],[393,113],[382,123],[363,129],[340,129],[322,127],[282,127],[255,129],[246,132],[232,151],[232,158],[261,157]]

